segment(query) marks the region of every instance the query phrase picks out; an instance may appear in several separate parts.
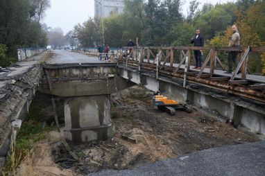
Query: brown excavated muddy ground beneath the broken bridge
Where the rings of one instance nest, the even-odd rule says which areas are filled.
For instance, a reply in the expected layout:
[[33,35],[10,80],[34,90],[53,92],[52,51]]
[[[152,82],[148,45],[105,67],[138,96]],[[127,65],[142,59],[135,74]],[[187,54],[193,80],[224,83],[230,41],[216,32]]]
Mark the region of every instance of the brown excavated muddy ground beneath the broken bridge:
[[33,148],[31,159],[22,163],[20,175],[87,175],[258,140],[195,109],[175,116],[155,110],[152,97],[153,92],[138,86],[112,94],[112,139],[71,146],[77,161],[65,150],[58,133],[50,132]]

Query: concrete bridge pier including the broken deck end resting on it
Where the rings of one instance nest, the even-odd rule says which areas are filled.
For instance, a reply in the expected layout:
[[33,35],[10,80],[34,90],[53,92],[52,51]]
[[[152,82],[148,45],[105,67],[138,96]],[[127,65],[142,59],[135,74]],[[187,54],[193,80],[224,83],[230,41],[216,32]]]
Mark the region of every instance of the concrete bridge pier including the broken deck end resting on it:
[[112,137],[110,94],[135,85],[117,76],[116,63],[46,65],[40,91],[65,100],[65,140],[87,143]]

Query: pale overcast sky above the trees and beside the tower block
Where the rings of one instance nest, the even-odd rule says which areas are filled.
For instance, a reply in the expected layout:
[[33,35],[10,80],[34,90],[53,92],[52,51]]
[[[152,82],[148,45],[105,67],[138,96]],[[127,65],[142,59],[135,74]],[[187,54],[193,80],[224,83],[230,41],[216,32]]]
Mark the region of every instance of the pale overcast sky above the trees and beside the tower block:
[[[187,15],[189,1],[183,0],[183,14]],[[200,0],[203,3],[225,3],[235,0]],[[75,24],[83,24],[89,17],[94,17],[94,0],[51,0],[51,8],[46,10],[43,22],[51,28],[62,28],[66,34]]]

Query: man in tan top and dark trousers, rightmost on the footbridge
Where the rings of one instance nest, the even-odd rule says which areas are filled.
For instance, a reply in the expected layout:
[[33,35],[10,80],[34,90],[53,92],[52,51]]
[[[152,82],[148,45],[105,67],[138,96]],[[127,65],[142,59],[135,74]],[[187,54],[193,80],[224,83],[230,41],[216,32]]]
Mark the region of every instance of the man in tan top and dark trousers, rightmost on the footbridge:
[[[240,46],[240,35],[239,35],[239,31],[237,30],[237,25],[233,24],[231,26],[232,29],[232,36],[229,38],[229,47],[233,47],[233,46]],[[228,71],[226,71],[225,73],[232,73],[232,67],[233,67],[233,63],[234,65],[237,67],[237,64],[239,63],[237,61],[237,54],[239,52],[237,51],[230,51],[228,53]]]

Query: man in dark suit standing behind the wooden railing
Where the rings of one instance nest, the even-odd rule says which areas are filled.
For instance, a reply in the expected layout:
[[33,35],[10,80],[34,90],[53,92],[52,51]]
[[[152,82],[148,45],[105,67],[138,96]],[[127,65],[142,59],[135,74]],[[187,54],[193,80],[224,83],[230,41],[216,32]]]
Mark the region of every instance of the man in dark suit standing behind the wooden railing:
[[[204,38],[203,35],[200,35],[200,29],[196,29],[196,35],[191,37],[191,44],[194,43],[194,46],[203,46],[204,45]],[[201,67],[201,50],[194,50],[194,57],[196,61],[196,67],[194,69],[200,69]]]

